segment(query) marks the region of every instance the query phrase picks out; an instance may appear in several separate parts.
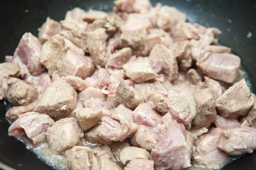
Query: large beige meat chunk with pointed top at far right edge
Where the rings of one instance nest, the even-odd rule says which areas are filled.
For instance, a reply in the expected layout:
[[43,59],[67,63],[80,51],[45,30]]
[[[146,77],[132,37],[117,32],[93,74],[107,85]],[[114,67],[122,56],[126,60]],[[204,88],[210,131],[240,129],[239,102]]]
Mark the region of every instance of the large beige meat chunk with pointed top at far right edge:
[[253,106],[254,96],[242,79],[228,88],[224,94],[216,100],[216,110],[224,117],[237,117],[245,115]]

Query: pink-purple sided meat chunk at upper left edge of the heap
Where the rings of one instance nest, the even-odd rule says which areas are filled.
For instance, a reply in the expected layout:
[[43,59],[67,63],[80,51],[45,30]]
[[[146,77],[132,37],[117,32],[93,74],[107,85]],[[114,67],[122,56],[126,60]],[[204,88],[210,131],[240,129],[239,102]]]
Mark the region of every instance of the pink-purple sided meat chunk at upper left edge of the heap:
[[14,52],[13,59],[19,58],[33,76],[37,76],[45,71],[40,63],[42,45],[38,38],[31,33],[25,33]]

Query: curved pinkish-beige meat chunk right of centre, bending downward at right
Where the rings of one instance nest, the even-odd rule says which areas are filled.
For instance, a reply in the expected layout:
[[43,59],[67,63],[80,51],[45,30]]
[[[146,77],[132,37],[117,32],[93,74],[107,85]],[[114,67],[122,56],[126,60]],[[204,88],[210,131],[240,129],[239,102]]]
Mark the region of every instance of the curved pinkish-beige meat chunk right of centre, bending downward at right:
[[171,51],[164,45],[155,45],[149,54],[149,59],[159,59],[163,64],[162,73],[169,81],[173,81],[178,77],[177,60]]

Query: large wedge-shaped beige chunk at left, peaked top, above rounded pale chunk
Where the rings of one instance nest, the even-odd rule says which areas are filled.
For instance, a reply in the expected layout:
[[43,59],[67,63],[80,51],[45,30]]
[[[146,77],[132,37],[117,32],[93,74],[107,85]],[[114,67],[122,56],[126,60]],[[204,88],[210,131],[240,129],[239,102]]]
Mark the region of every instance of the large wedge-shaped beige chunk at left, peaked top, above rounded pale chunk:
[[64,79],[60,79],[45,90],[34,111],[52,117],[65,116],[75,108],[76,101],[76,90]]

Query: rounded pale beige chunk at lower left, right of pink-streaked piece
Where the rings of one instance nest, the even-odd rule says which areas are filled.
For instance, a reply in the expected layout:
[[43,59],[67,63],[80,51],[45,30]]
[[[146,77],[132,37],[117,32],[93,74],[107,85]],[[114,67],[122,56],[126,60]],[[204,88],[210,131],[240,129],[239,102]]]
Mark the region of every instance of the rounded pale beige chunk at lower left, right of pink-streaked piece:
[[84,137],[84,133],[76,119],[71,117],[55,122],[52,127],[47,129],[46,136],[52,152],[60,154],[64,150],[78,145]]

